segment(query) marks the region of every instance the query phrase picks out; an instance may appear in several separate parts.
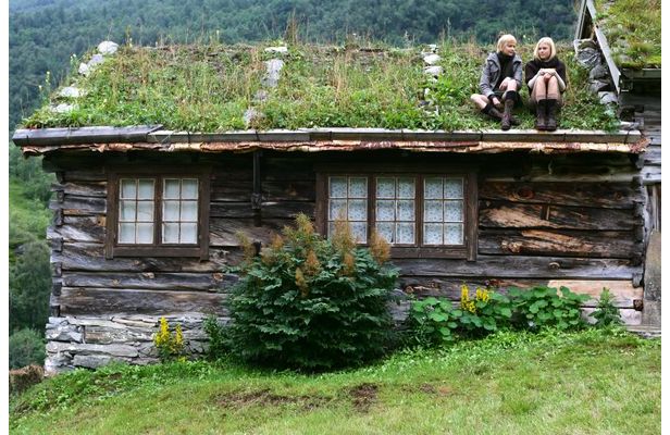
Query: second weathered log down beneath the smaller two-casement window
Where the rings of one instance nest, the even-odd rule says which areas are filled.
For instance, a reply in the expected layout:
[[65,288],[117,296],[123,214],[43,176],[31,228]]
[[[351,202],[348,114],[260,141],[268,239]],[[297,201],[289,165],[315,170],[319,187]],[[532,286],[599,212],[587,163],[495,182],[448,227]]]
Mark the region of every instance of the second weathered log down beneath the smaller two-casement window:
[[63,276],[65,287],[97,287],[120,289],[152,289],[170,291],[218,291],[237,282],[232,274],[215,273],[117,273],[117,272],[67,272]]

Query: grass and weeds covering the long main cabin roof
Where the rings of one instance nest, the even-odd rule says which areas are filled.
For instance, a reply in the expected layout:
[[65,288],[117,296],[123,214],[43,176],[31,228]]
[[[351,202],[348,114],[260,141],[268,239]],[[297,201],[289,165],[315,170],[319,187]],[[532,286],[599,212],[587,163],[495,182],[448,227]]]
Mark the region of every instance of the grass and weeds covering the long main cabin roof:
[[[77,99],[51,94],[24,126],[131,126],[163,124],[165,129],[216,133],[245,128],[379,127],[411,129],[495,129],[499,125],[473,108],[487,50],[443,41],[436,82],[423,73],[421,47],[351,48],[297,45],[280,55],[285,66],[268,99],[256,98],[273,54],[268,45],[207,44],[166,48],[123,46],[89,76],[76,71],[64,85],[85,92]],[[520,47],[524,61],[532,46]],[[276,54],[275,54],[276,55]],[[600,105],[587,87],[568,46],[559,48],[569,72],[561,127],[613,129],[613,111]],[[75,62],[78,64],[78,61]],[[528,89],[522,90],[528,100]],[[52,107],[74,104],[67,113]],[[51,108],[50,108],[51,107]],[[250,125],[245,111],[262,113]],[[533,116],[519,110],[520,128]]]

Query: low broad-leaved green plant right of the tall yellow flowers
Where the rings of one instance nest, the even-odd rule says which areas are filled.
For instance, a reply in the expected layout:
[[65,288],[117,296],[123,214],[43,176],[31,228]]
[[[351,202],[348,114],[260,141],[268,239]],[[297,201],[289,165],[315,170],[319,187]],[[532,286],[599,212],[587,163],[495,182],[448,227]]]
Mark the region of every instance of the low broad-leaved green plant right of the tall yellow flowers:
[[526,290],[511,287],[508,296],[514,311],[513,324],[521,330],[537,331],[546,326],[558,330],[574,330],[585,324],[580,307],[590,299],[567,287],[560,287],[561,296],[553,287],[533,287]]

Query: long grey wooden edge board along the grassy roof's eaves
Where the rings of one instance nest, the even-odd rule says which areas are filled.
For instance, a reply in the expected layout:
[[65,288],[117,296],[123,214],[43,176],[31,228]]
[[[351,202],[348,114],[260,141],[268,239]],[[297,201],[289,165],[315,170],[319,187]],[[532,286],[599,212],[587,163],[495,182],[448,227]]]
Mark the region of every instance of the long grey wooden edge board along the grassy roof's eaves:
[[90,144],[199,144],[199,142],[306,142],[321,140],[368,141],[500,141],[500,142],[591,142],[632,144],[642,134],[637,129],[619,132],[559,129],[502,130],[415,130],[385,128],[300,128],[269,130],[237,130],[225,133],[191,133],[159,129],[160,126],[82,127],[18,129],[12,140],[24,147],[53,147]]

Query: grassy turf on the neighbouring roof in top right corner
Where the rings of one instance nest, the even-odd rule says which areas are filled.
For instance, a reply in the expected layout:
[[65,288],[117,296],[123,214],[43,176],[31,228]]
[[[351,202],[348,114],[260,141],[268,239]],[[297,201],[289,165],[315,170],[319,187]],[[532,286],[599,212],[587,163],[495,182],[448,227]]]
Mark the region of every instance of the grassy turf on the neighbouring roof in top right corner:
[[594,0],[596,24],[622,69],[660,67],[661,0]]

